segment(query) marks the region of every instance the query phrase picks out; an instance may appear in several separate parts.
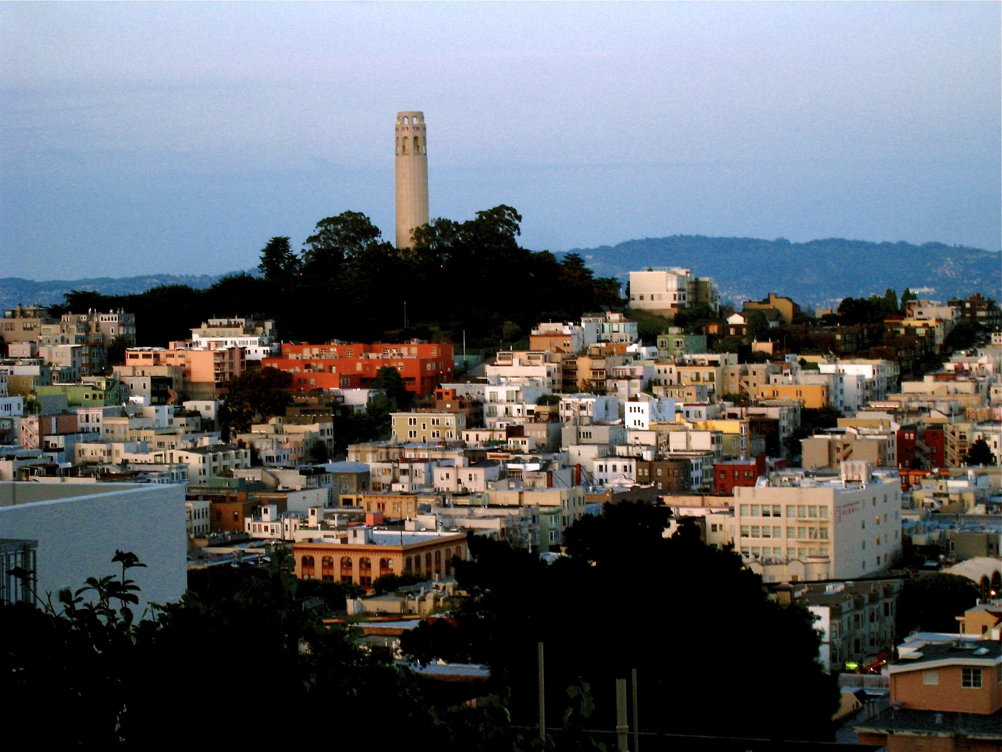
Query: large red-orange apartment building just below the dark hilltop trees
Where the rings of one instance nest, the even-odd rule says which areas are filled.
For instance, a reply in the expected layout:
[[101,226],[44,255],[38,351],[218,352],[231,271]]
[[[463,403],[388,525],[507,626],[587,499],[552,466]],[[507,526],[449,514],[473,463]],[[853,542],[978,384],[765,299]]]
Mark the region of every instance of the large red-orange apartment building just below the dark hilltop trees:
[[408,342],[399,345],[366,345],[331,342],[326,345],[283,343],[282,355],[265,358],[262,368],[278,368],[293,375],[293,390],[366,389],[379,369],[396,368],[407,391],[428,394],[453,372],[453,346],[449,343]]

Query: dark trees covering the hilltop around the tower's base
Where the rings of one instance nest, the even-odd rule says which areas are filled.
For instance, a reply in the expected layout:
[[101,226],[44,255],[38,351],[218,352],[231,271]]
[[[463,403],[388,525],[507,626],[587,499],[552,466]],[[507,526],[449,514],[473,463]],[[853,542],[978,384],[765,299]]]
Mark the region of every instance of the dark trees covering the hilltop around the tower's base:
[[321,220],[296,252],[287,237],[262,251],[263,277],[224,277],[204,290],[186,285],[136,295],[73,291],[61,311],[122,308],[136,315],[139,345],[187,339],[214,317],[275,319],[287,340],[401,341],[412,337],[493,347],[538,321],[573,320],[624,303],[619,283],[595,278],[584,260],[558,260],[518,245],[522,218],[511,207],[468,222],[435,220],[414,248],[383,240],[370,219],[345,212]]

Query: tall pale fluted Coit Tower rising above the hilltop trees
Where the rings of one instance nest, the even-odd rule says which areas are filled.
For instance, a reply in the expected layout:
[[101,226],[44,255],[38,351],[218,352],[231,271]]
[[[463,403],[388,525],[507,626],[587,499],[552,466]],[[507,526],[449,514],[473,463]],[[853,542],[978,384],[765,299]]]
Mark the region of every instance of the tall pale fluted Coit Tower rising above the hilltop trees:
[[428,224],[428,130],[424,112],[397,113],[397,248]]

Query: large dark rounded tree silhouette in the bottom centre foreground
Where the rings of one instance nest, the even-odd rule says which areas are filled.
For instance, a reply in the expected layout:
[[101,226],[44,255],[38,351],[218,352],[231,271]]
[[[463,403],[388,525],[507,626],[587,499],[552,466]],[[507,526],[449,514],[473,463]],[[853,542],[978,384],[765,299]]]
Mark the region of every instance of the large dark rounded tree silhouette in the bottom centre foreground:
[[469,594],[453,611],[456,627],[410,633],[403,650],[422,660],[469,656],[488,663],[492,681],[511,688],[520,723],[531,723],[535,711],[534,656],[542,641],[551,700],[583,679],[597,707],[592,728],[614,725],[613,680],[636,668],[645,729],[828,737],[839,693],[816,661],[813,617],[769,600],[737,554],[706,546],[688,525],[663,537],[666,521],[665,507],[606,504],[602,516],[586,515],[568,528],[570,555],[550,566],[472,536],[473,559],[456,562],[458,584]]

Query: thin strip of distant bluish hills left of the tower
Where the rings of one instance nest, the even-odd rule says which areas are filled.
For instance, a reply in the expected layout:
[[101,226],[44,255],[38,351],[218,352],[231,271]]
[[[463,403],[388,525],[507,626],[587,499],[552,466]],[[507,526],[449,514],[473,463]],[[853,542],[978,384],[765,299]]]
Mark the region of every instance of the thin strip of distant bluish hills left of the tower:
[[[63,295],[72,290],[90,290],[104,295],[135,295],[161,285],[187,285],[196,290],[211,287],[223,277],[240,272],[226,272],[220,275],[174,275],[151,274],[139,277],[93,277],[83,280],[49,280],[36,282],[20,277],[0,279],[0,305],[13,308],[18,303],[37,303],[52,306],[63,303]],[[247,274],[260,274],[257,269]]]

